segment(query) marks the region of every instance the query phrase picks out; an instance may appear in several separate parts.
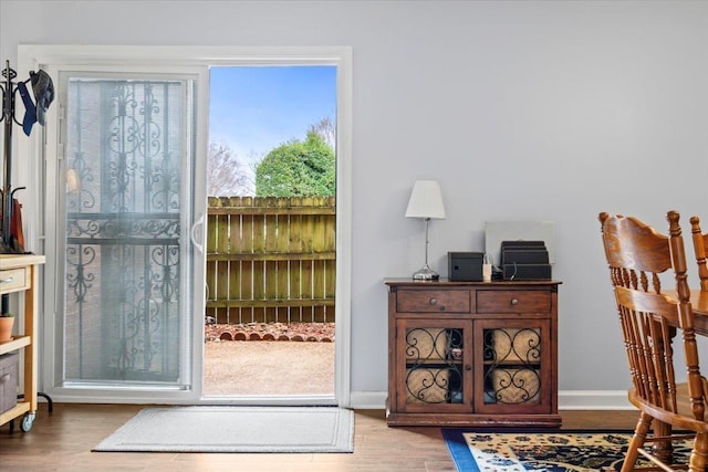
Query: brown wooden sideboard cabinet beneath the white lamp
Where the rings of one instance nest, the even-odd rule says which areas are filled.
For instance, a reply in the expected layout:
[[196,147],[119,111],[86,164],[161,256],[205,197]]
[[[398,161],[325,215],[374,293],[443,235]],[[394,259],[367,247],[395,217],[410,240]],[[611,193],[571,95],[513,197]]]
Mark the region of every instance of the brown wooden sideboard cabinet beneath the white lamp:
[[389,426],[561,424],[560,282],[385,283]]

